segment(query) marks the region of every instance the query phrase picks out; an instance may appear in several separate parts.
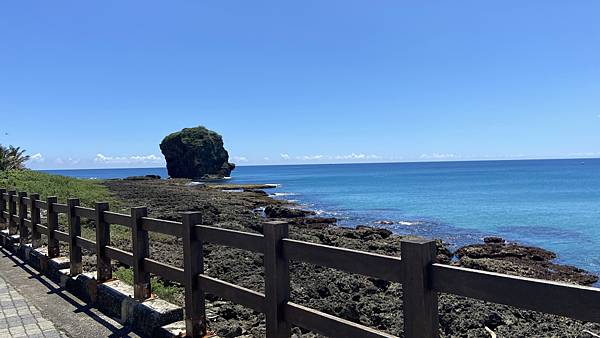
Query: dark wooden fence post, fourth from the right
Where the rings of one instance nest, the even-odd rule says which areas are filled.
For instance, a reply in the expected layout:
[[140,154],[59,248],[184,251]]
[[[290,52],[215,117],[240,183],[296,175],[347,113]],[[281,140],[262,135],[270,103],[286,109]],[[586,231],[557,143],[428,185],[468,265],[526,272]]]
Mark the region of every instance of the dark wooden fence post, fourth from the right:
[[150,254],[148,231],[142,229],[142,217],[148,216],[146,207],[131,208],[131,242],[133,243],[133,297],[150,298],[150,273],[144,269],[144,258]]

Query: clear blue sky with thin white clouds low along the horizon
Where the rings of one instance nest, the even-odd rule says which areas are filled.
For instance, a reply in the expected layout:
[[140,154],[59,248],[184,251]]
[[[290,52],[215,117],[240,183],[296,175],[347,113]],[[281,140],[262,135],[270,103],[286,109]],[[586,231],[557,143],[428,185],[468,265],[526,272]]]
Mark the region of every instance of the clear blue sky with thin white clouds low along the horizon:
[[600,156],[600,2],[3,1],[0,143],[155,166]]

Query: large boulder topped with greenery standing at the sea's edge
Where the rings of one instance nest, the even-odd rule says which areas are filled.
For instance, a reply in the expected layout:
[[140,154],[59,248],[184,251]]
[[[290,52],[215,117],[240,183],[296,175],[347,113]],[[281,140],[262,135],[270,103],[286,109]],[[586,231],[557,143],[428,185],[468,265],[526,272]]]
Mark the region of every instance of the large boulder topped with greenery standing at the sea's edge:
[[229,163],[221,135],[202,126],[168,135],[160,150],[173,178],[223,178],[235,168]]

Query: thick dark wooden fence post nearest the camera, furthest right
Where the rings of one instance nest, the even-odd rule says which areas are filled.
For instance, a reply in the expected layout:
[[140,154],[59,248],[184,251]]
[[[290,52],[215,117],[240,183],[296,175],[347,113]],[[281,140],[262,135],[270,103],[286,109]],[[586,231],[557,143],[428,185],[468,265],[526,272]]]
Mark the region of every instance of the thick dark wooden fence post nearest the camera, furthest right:
[[421,338],[439,336],[438,296],[430,288],[429,267],[435,263],[435,241],[402,241],[402,302],[404,336]]

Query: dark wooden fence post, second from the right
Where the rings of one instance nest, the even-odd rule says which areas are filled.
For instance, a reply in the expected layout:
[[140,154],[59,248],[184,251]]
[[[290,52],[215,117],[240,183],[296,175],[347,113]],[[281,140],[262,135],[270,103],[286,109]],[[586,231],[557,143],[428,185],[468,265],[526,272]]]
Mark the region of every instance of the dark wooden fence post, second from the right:
[[285,320],[285,306],[290,298],[289,260],[283,253],[282,239],[288,237],[286,222],[263,224],[265,236],[265,301],[268,338],[289,338],[291,326]]

